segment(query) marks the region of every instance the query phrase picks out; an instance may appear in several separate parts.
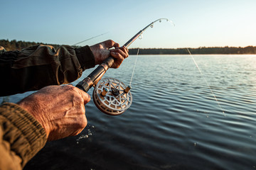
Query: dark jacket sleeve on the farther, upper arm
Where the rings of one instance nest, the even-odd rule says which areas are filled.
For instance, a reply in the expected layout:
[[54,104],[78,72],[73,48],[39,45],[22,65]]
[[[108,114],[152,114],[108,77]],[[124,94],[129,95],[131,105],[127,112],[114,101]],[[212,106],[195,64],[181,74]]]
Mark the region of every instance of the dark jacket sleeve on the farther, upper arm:
[[49,85],[68,84],[95,67],[89,46],[35,45],[21,51],[0,49],[0,96],[33,91]]

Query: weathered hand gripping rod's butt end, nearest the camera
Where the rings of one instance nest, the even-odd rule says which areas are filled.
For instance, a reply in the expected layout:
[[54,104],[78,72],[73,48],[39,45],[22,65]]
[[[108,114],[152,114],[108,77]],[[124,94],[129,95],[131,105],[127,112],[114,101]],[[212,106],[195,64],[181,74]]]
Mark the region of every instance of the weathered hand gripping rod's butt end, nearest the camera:
[[89,101],[90,96],[74,86],[47,86],[18,105],[41,123],[50,141],[82,132],[87,125],[85,104]]

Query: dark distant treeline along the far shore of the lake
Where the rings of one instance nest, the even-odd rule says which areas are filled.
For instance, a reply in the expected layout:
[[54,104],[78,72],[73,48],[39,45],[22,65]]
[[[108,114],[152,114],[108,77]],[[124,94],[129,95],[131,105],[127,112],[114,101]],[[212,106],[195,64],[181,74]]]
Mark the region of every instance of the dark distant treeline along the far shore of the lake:
[[[0,46],[3,46],[7,51],[21,50],[31,45],[52,45],[57,49],[60,45],[46,44],[42,42],[25,42],[16,40],[0,40]],[[76,46],[78,47],[78,46]],[[256,47],[198,47],[188,48],[194,55],[196,54],[256,54]],[[129,55],[137,55],[137,48],[129,49]],[[139,55],[188,55],[187,48],[140,48]]]

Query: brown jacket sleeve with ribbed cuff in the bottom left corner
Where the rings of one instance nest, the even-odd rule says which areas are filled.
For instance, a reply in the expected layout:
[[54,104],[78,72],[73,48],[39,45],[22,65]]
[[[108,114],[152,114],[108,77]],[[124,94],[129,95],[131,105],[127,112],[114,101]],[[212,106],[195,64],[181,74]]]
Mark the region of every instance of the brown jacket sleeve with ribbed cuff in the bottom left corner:
[[46,145],[46,132],[14,103],[0,106],[0,169],[22,169]]

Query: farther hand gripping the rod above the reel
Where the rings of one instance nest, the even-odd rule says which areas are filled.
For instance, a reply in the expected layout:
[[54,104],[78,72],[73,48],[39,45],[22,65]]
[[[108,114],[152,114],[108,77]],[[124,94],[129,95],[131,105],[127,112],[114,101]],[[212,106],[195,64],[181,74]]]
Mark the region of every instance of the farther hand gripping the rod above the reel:
[[[114,47],[114,49],[110,50],[112,47]],[[119,47],[119,44],[113,40],[106,40],[92,45],[90,49],[95,56],[95,64],[101,64],[107,57],[110,57],[110,55],[117,59],[114,64],[112,64],[112,68],[118,68],[124,59],[129,56],[127,47]]]

